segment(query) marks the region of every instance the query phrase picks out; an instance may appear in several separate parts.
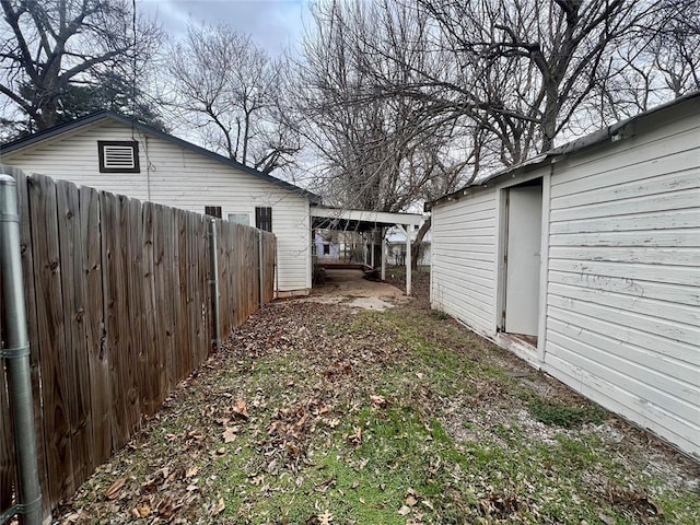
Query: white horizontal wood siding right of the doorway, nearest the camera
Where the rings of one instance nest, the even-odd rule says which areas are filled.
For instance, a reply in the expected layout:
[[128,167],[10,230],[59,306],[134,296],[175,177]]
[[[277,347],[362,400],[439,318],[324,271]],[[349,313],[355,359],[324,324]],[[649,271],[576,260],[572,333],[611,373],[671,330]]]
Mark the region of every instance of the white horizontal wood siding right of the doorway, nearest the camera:
[[699,119],[643,131],[555,164],[545,369],[700,455]]

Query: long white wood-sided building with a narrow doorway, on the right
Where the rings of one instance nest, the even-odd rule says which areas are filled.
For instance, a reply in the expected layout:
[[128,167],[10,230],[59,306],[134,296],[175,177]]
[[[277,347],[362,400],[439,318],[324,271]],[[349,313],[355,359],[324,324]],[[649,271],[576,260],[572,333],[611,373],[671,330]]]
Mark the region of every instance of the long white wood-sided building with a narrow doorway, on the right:
[[700,457],[700,93],[429,208],[434,308]]

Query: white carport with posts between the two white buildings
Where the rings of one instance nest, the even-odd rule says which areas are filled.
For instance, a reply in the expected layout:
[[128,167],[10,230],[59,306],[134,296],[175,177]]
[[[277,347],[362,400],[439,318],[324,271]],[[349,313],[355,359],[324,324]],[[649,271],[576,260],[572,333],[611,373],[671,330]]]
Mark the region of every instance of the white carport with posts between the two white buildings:
[[[311,207],[312,230],[335,230],[354,232],[366,236],[369,232],[380,231],[382,238],[381,276],[386,279],[386,229],[396,226],[406,235],[406,295],[411,293],[411,237],[413,228],[420,226],[423,217],[418,213],[390,213],[386,211],[349,210],[345,208]],[[376,268],[374,260],[374,235],[370,236],[372,249],[370,260],[364,265]]]

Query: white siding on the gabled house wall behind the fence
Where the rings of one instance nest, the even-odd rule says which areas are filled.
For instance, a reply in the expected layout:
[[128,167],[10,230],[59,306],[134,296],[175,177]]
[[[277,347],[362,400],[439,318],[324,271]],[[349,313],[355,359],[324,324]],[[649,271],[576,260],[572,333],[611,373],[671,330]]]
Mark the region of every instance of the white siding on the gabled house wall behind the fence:
[[[104,174],[98,170],[97,140],[139,142],[141,173]],[[249,213],[272,208],[272,231],[278,238],[279,290],[311,289],[308,200],[293,191],[180,148],[108,121],[65,133],[36,147],[3,155],[4,164],[27,173],[127,195],[141,200],[203,213],[206,206],[221,206],[228,213]]]

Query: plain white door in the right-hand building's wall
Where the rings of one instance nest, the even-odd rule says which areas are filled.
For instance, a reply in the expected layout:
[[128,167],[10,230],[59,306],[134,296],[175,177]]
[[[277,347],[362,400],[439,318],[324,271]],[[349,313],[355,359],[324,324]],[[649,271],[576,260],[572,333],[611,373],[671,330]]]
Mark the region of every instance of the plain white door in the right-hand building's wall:
[[505,331],[537,336],[542,188],[508,191]]

